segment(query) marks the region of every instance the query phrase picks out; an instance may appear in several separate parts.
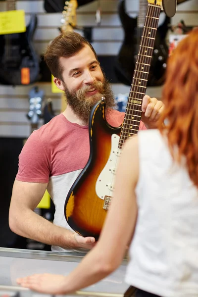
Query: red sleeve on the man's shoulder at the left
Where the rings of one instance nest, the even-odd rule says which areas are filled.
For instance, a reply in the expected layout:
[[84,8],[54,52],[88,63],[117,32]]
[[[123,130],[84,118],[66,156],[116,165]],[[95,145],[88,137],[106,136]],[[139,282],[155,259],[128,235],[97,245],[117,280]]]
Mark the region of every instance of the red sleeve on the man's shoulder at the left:
[[49,173],[49,159],[39,137],[39,132],[36,130],[30,135],[21,150],[16,180],[48,183]]

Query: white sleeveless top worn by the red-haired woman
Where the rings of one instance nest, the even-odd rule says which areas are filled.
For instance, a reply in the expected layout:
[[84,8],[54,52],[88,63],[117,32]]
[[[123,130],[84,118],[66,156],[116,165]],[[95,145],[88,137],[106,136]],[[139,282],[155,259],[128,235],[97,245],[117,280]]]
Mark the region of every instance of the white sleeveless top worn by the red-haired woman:
[[158,130],[140,131],[138,219],[126,282],[162,297],[198,297],[198,189]]

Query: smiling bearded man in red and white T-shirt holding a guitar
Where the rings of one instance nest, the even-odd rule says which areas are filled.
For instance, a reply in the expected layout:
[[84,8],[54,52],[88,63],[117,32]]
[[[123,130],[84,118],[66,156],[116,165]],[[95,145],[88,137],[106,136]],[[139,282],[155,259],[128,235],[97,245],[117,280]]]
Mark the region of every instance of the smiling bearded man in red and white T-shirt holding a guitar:
[[[65,92],[67,107],[34,131],[19,155],[9,226],[21,236],[51,245],[52,251],[90,249],[95,238],[84,238],[72,231],[64,217],[64,202],[89,158],[88,120],[92,107],[104,96],[106,120],[114,127],[121,125],[124,113],[113,109],[114,96],[97,54],[80,34],[66,32],[57,36],[45,60],[54,83]],[[161,101],[145,96],[140,129],[155,128],[163,108]],[[53,224],[34,212],[46,189],[55,205]]]

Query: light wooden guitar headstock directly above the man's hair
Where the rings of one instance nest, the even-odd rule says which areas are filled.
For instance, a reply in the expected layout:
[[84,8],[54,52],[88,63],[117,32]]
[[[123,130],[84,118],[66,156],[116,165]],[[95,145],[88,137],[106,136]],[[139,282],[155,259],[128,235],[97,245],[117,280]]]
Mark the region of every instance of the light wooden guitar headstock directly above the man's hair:
[[77,0],[66,0],[64,10],[62,11],[62,18],[60,22],[62,26],[60,28],[61,33],[65,31],[73,31],[76,27],[76,9],[78,7]]

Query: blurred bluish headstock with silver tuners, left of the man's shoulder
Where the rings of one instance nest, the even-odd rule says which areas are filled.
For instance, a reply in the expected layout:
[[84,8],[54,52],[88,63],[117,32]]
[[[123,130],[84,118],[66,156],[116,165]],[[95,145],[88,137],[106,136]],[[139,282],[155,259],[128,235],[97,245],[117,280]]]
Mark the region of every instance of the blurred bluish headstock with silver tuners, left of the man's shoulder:
[[42,101],[44,91],[39,88],[33,87],[29,92],[29,112],[27,118],[31,122],[31,128],[37,129],[39,120],[42,117]]

